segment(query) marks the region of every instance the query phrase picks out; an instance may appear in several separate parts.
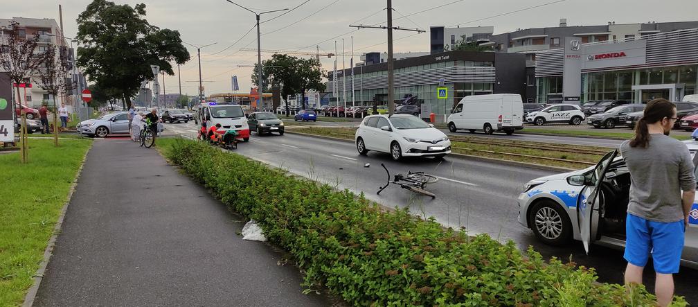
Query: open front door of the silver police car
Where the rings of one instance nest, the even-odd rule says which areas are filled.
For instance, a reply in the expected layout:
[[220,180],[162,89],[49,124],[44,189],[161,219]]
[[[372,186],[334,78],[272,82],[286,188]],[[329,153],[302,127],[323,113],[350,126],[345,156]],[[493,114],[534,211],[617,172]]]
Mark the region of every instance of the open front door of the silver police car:
[[600,187],[604,176],[609,169],[609,165],[618,155],[618,150],[611,151],[596,164],[594,170],[586,175],[584,188],[582,188],[577,198],[577,223],[581,242],[584,243],[584,250],[589,253],[591,243],[597,238],[600,216]]

